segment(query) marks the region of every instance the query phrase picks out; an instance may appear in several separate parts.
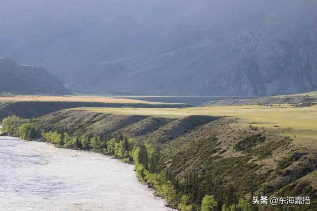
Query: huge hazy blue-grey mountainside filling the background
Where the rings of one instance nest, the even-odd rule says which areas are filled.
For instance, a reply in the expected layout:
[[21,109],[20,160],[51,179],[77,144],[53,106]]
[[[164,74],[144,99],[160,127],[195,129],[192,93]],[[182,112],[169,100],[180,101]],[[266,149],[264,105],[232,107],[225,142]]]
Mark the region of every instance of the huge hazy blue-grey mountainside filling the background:
[[76,91],[304,92],[317,89],[316,11],[315,0],[12,0],[0,55]]

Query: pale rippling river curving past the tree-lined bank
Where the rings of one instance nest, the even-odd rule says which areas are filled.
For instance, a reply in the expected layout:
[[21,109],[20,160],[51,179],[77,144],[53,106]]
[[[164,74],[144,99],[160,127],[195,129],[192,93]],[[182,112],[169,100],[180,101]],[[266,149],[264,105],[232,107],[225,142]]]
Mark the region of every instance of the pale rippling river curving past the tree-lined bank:
[[0,136],[0,210],[171,211],[133,168],[99,153]]

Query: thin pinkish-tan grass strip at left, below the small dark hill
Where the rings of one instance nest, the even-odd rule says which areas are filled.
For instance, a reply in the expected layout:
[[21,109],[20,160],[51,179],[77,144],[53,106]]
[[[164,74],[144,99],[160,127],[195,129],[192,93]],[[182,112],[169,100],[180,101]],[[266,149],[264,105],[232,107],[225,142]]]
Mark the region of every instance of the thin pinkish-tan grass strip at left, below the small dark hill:
[[[102,96],[37,96],[37,95],[18,95],[0,97],[0,102],[9,101],[43,101],[43,102],[101,102],[101,103],[146,103],[146,104],[170,104],[149,102],[145,100],[134,100],[124,98],[102,97]],[[176,103],[172,103],[176,104]]]

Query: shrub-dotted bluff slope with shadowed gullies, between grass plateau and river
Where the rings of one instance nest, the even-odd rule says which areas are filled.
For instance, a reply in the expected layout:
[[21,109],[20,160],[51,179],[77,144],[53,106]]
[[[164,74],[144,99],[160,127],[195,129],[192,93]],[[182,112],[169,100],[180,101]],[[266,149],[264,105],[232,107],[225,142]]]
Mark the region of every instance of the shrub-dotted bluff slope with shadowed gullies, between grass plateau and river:
[[[287,128],[245,126],[241,121],[224,117],[119,115],[71,109],[34,119],[30,124],[41,136],[55,131],[48,136],[51,142],[56,137],[61,140],[59,135],[67,133],[67,144],[55,143],[62,147],[82,148],[75,137],[81,140],[83,135],[87,137],[89,144],[85,147],[89,150],[115,154],[125,161],[137,159],[139,178],[159,187],[156,182],[162,176],[162,184],[167,186],[158,192],[175,208],[200,209],[204,196],[213,195],[216,209],[221,210],[235,203],[238,206],[239,199],[250,203],[253,195],[263,194],[309,195],[310,206],[289,208],[316,208],[316,148],[306,147],[305,142],[298,143],[294,137],[281,136]],[[130,144],[137,148],[131,149]],[[139,150],[137,156],[136,149]],[[258,206],[257,209],[275,208]]]

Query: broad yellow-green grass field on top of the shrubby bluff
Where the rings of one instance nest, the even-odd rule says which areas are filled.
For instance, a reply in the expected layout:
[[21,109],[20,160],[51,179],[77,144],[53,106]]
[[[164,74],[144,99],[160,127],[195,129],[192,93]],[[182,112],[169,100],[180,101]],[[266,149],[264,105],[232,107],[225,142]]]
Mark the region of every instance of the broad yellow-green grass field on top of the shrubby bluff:
[[[215,117],[237,117],[239,125],[285,129],[285,135],[317,139],[317,106],[286,107],[275,105],[264,107],[258,105],[214,106],[193,108],[75,108],[93,112],[146,115],[160,117],[185,117],[204,115]],[[274,126],[278,127],[274,127]]]

